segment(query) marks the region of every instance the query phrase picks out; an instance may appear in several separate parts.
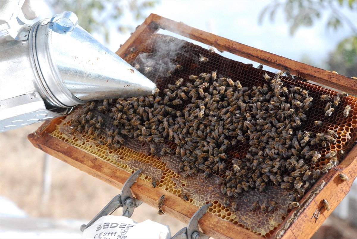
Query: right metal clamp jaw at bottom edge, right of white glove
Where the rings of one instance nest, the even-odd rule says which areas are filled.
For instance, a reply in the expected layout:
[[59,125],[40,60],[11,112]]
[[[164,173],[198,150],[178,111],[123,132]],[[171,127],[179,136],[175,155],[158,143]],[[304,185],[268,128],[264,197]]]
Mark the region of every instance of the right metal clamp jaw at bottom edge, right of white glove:
[[198,221],[202,218],[203,215],[206,214],[207,209],[212,206],[212,203],[208,203],[202,208],[198,209],[195,214],[193,214],[192,218],[188,222],[187,227],[182,228],[178,231],[171,239],[208,239],[210,236],[202,233],[198,229]]

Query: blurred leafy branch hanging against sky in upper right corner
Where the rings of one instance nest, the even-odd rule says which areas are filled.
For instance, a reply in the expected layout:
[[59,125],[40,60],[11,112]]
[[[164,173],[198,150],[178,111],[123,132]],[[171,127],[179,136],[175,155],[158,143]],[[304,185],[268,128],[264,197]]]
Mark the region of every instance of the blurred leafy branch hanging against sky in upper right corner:
[[[337,7],[335,3],[338,5]],[[273,21],[277,10],[282,9],[289,25],[290,34],[294,35],[298,28],[312,26],[314,21],[320,20],[322,11],[325,11],[328,13],[327,28],[336,30],[343,24],[347,24],[356,34],[356,26],[338,9],[347,4],[351,11],[355,11],[356,3],[357,0],[274,0],[261,11],[259,23],[263,22],[266,14],[269,15],[270,21]]]

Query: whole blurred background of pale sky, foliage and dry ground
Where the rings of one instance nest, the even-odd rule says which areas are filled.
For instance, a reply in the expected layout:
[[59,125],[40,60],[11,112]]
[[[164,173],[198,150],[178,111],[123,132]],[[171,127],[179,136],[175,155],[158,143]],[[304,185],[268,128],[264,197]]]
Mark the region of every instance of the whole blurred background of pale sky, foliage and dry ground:
[[[155,13],[321,69],[357,76],[357,0],[52,0],[37,4],[43,11],[36,20],[73,11],[79,25],[114,52]],[[164,30],[159,33],[177,36]],[[226,52],[222,55],[259,64]],[[120,190],[32,146],[27,135],[40,125],[0,134],[0,237],[81,238],[80,225],[88,223]],[[115,213],[120,214],[120,210]],[[187,226],[158,215],[157,209],[144,203],[131,218],[167,224],[172,235]],[[356,180],[313,238],[357,238]]]

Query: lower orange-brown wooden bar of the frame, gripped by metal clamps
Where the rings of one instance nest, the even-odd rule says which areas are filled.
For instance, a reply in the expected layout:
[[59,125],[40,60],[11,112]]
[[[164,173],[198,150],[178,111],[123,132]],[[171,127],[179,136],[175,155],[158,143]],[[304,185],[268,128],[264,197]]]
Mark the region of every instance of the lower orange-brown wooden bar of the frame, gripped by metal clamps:
[[[64,161],[75,168],[86,172],[116,188],[121,189],[126,179],[129,178],[130,173],[110,164],[99,157],[87,154],[85,151],[75,148],[74,146],[65,143],[59,139],[51,136],[50,130],[53,128],[51,122],[46,122],[41,126],[42,133],[35,131],[27,137],[30,142],[42,151]],[[39,130],[40,130],[39,129]],[[184,222],[188,223],[191,216],[198,210],[198,207],[190,203],[185,203],[179,197],[167,193],[167,191],[152,188],[151,185],[145,183],[143,180],[137,182],[131,187],[133,195],[157,208],[157,199],[165,194],[165,205],[162,208],[166,214]],[[108,199],[109,200],[109,199]],[[94,213],[95,214],[95,213]],[[228,221],[221,220],[217,216],[206,213],[199,225],[203,232],[213,238],[261,238],[255,233],[241,228]]]

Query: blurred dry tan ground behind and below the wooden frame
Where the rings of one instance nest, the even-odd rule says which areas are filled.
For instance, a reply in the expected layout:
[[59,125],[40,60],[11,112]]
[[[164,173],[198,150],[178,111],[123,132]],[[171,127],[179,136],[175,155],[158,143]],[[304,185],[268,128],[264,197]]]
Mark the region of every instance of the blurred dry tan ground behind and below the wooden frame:
[[[27,140],[27,135],[40,125],[32,124],[0,134],[0,195],[14,201],[32,217],[91,220],[120,190],[49,156],[51,184],[49,193],[44,194],[46,154]],[[119,210],[114,215],[120,215]],[[167,224],[172,235],[187,226],[168,215],[158,215],[157,209],[144,203],[135,209],[131,219]],[[336,230],[340,234],[334,234],[331,225],[338,225]],[[355,238],[356,229],[348,226],[342,229],[346,225],[330,216],[313,238],[326,238],[326,235]]]

